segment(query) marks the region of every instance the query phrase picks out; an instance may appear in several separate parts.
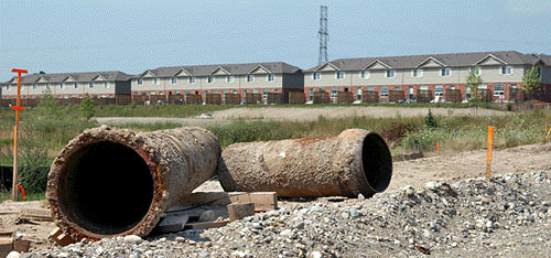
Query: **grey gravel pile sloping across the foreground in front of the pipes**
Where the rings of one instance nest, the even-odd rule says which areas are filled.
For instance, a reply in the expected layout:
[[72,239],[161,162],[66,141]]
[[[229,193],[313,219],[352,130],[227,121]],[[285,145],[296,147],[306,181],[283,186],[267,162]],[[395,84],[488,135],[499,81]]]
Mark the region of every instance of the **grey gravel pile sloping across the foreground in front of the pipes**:
[[21,257],[551,257],[551,173],[281,202],[223,228],[80,241]]

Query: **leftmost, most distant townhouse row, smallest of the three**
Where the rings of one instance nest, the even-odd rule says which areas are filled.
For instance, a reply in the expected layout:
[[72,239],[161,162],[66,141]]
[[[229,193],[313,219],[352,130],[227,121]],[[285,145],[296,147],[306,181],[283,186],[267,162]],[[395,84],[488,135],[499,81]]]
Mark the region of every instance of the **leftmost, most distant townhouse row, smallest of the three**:
[[[130,75],[119,71],[89,73],[36,73],[21,77],[23,105],[34,106],[44,94],[51,94],[62,103],[79,103],[89,96],[98,104],[130,103]],[[14,76],[0,84],[2,106],[14,105],[18,78]]]

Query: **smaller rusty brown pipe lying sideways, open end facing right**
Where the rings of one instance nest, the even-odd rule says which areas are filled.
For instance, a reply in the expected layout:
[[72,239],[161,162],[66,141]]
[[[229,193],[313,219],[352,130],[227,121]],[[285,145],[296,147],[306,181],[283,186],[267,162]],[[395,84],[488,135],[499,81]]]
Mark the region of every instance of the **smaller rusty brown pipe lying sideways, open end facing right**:
[[385,191],[392,158],[377,133],[236,143],[222,152],[225,191],[272,191],[285,197],[371,196]]

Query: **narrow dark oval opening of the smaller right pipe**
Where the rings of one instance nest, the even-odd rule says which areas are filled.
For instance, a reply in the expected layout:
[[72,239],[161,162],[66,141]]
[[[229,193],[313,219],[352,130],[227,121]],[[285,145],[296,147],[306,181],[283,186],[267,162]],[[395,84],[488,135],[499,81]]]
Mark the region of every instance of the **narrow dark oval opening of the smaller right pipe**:
[[376,133],[364,139],[361,160],[367,182],[376,192],[385,191],[392,178],[392,155],[385,140]]

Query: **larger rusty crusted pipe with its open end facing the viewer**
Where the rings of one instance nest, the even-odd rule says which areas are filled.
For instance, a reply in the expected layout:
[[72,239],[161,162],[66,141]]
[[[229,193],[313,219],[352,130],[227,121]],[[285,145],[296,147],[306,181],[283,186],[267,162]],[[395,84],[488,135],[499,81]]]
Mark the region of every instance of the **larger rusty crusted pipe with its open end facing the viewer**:
[[56,224],[74,239],[148,235],[162,213],[216,174],[220,147],[202,128],[86,130],[47,176]]

